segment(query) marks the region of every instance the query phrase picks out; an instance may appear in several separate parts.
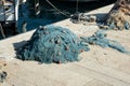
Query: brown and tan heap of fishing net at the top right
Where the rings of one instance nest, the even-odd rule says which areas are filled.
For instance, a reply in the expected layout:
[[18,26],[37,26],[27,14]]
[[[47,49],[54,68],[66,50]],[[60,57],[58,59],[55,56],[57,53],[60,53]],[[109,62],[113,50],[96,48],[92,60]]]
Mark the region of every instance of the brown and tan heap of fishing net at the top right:
[[106,16],[106,29],[130,29],[130,0],[117,0]]

